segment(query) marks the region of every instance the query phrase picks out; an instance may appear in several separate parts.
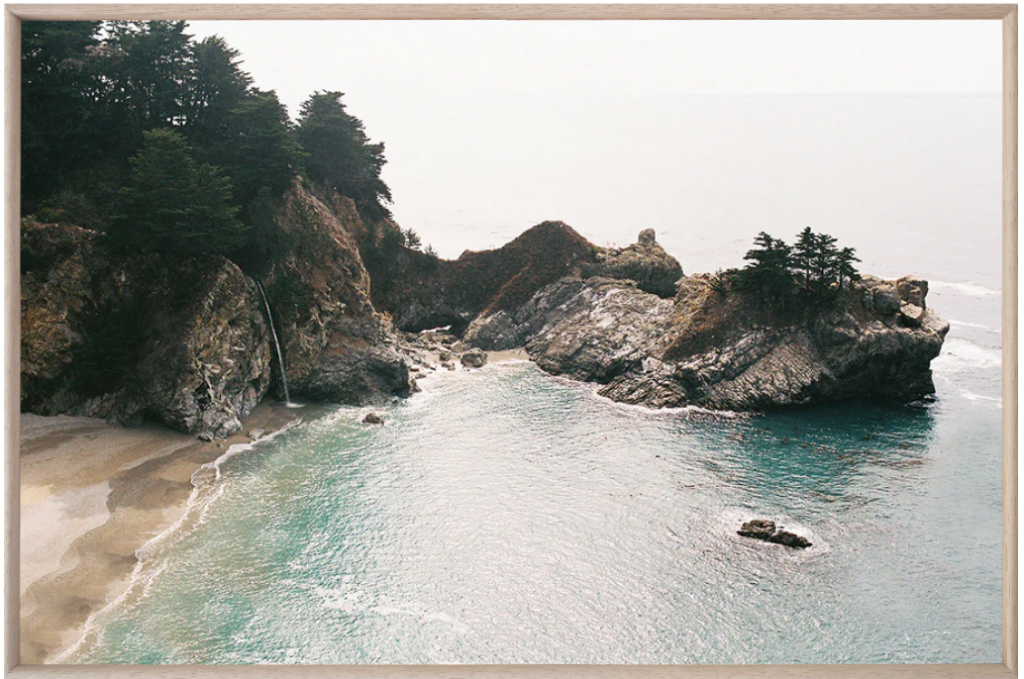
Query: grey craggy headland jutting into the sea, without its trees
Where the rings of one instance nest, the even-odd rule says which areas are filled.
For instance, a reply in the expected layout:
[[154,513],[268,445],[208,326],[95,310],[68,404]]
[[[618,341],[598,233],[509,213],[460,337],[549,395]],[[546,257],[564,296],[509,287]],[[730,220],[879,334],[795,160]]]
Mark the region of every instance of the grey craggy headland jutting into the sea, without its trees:
[[545,371],[652,408],[909,401],[934,392],[930,363],[949,330],[926,296],[919,279],[864,277],[824,309],[781,314],[710,275],[684,279],[673,300],[632,282],[567,277],[513,312],[478,319],[466,340],[525,345]]

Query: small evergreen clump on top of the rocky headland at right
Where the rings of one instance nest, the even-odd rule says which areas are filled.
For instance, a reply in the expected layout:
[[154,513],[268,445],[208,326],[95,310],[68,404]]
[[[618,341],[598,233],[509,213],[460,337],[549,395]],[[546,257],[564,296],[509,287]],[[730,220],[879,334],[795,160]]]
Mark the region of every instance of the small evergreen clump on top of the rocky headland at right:
[[736,287],[767,302],[785,305],[794,292],[805,299],[827,301],[860,278],[853,248],[840,248],[836,239],[808,226],[794,245],[761,231],[743,256],[749,263],[733,272]]

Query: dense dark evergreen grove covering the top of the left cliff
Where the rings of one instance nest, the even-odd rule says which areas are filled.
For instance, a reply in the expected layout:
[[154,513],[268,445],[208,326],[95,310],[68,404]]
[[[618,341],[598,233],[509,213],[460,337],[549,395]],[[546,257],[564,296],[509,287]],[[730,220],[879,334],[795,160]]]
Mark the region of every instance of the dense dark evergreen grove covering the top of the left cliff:
[[23,213],[177,254],[273,252],[274,204],[296,176],[390,216],[372,143],[341,92],[297,123],[220,37],[184,22],[22,25]]

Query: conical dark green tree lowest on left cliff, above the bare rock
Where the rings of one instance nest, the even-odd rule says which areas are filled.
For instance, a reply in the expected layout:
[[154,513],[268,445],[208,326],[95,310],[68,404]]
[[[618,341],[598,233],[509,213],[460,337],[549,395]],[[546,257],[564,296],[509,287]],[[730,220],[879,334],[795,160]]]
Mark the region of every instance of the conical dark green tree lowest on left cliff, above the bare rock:
[[217,168],[197,163],[177,132],[152,130],[144,138],[122,190],[124,211],[108,232],[111,244],[176,255],[242,247],[248,228],[238,219],[230,181]]

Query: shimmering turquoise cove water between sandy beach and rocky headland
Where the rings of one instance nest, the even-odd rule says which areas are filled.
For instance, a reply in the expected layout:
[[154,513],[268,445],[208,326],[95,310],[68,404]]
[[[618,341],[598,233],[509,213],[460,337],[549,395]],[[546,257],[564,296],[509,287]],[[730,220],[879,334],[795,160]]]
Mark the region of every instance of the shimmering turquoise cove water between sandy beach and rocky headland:
[[[998,661],[991,401],[651,412],[528,363],[423,385],[200,474],[62,660]],[[738,538],[752,516],[814,546]]]

